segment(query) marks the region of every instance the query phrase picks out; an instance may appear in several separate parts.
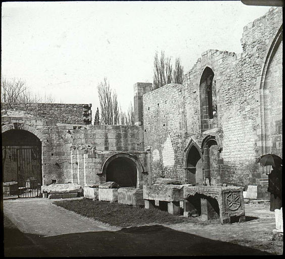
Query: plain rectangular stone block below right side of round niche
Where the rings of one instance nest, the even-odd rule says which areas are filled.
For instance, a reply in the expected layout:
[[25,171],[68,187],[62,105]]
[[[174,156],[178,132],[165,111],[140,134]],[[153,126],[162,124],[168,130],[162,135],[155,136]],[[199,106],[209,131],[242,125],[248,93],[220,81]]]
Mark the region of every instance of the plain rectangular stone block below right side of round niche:
[[134,187],[123,187],[118,189],[118,203],[133,206],[141,206],[145,204],[143,197],[143,189]]

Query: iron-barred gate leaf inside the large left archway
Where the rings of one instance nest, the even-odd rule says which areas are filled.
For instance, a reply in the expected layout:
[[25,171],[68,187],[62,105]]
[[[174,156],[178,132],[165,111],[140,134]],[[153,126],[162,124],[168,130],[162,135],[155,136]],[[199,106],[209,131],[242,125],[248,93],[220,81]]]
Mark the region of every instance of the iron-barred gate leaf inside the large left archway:
[[39,197],[41,161],[38,147],[17,148],[18,197]]

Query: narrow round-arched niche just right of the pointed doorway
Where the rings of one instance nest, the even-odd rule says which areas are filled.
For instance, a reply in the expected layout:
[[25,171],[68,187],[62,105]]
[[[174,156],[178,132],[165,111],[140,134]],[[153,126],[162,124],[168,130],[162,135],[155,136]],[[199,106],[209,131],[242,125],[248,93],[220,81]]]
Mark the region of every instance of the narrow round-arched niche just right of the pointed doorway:
[[203,175],[207,185],[217,185],[222,182],[220,174],[221,141],[216,134],[207,135],[202,141]]

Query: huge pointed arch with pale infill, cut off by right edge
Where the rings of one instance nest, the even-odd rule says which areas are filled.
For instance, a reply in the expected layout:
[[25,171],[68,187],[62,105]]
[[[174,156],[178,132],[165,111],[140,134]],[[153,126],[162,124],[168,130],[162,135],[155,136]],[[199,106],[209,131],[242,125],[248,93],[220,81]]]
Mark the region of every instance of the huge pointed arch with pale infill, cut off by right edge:
[[[282,45],[281,25],[267,52],[260,78],[260,155],[282,157]],[[261,167],[263,174],[266,168]]]

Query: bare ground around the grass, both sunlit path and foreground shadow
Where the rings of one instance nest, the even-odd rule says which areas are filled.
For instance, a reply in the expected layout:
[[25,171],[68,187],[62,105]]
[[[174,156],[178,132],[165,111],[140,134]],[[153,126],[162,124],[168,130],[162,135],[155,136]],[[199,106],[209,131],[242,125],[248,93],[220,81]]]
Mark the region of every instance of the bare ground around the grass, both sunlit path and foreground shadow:
[[268,204],[246,204],[247,222],[242,224],[119,229],[81,217],[53,201],[4,201],[5,215],[20,230],[4,230],[6,256],[263,255],[268,253],[229,241],[269,240],[275,228]]

